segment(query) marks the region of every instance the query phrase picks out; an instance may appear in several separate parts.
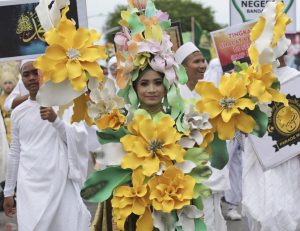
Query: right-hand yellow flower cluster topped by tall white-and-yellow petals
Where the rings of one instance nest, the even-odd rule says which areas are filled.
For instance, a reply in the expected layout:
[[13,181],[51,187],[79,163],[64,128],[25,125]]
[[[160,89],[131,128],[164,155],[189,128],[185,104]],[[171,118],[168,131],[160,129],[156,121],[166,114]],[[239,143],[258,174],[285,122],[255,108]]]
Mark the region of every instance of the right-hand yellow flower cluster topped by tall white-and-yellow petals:
[[285,37],[290,19],[283,13],[282,2],[268,2],[262,16],[251,31],[249,56],[251,66],[237,64],[239,71],[225,74],[219,87],[199,82],[196,91],[202,99],[196,108],[210,114],[213,131],[222,140],[232,139],[236,131],[262,136],[266,132],[268,115],[260,105],[272,101],[288,105],[273,72],[276,59],[290,43]]

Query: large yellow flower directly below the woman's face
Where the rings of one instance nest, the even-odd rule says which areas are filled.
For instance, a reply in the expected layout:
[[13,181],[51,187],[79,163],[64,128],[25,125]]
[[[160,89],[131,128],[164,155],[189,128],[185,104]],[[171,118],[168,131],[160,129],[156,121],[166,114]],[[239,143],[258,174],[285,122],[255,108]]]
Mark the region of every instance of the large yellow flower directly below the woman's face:
[[128,125],[131,134],[121,138],[126,151],[122,168],[142,167],[143,174],[151,176],[159,170],[161,164],[168,167],[174,160],[183,162],[185,150],[176,144],[181,134],[173,127],[174,125],[174,120],[167,115],[158,122],[143,115],[135,116]]

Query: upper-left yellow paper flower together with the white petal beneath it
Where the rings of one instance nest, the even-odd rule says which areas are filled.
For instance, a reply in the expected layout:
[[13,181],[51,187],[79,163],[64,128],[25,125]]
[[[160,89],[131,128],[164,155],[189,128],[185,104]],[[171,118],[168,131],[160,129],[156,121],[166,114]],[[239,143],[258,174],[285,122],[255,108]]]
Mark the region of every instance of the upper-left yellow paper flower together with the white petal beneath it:
[[[66,16],[68,11],[69,7],[65,6],[57,26],[45,33],[48,47],[45,54],[34,62],[34,66],[43,73],[45,84],[41,87],[38,101],[44,106],[69,103],[87,90],[90,78],[99,82],[104,79],[97,61],[107,58],[105,47],[94,45],[100,34],[86,28],[76,29],[74,22]],[[63,97],[51,100],[49,94]]]

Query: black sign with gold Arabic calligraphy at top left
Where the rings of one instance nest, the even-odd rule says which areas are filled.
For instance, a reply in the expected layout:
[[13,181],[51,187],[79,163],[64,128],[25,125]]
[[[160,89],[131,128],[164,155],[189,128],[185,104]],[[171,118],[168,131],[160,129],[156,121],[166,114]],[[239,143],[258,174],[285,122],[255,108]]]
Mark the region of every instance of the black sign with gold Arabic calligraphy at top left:
[[[86,2],[70,1],[68,16],[87,27]],[[0,1],[0,61],[35,58],[45,52],[44,29],[35,7],[39,0]]]

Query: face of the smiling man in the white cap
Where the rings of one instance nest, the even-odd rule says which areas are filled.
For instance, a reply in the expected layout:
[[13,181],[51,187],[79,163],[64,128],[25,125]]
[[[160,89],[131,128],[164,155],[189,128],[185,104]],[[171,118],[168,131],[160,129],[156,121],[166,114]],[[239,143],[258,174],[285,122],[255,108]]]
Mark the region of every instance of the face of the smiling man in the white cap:
[[183,66],[185,67],[189,79],[198,81],[204,77],[207,62],[203,55],[199,51],[196,51],[186,58]]

